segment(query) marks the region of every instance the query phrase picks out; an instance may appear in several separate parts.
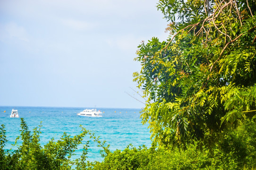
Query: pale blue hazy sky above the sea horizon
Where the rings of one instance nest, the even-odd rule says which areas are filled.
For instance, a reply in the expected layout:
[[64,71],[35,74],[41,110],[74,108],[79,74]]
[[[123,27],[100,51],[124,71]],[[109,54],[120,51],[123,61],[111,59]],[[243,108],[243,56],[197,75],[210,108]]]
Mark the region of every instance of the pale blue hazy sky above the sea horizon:
[[168,37],[157,2],[0,0],[0,105],[143,108],[137,46]]

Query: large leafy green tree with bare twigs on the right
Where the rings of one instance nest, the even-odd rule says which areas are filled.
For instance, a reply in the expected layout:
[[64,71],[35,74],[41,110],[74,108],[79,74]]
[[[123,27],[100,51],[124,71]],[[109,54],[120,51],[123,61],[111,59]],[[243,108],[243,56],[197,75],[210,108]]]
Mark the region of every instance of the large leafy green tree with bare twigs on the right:
[[256,118],[256,0],[159,0],[167,41],[138,46],[134,81],[160,146],[212,148]]

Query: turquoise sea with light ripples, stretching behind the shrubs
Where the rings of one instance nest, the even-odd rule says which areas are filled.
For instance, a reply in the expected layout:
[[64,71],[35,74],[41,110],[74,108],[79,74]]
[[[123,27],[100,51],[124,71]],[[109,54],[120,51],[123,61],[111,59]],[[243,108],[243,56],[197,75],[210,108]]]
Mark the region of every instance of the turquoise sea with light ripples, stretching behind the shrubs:
[[[141,109],[119,108],[80,108],[80,107],[25,107],[25,106],[0,106],[0,125],[4,124],[8,142],[4,149],[17,149],[15,140],[20,136],[19,118],[10,118],[11,110],[18,110],[20,118],[24,118],[33,134],[35,127],[41,124],[40,144],[47,144],[51,138],[54,141],[66,132],[70,136],[79,135],[81,127],[90,130],[95,136],[100,136],[100,141],[110,144],[111,152],[119,149],[124,150],[129,144],[135,147],[151,146],[150,131],[148,124],[142,125],[140,119]],[[102,111],[102,117],[83,117],[77,113],[85,109],[97,109]],[[100,154],[102,148],[98,147],[89,136],[85,136],[83,144],[79,144],[71,159],[80,158],[83,146],[90,141],[88,148],[88,161],[103,161]],[[18,144],[21,144],[19,139]]]

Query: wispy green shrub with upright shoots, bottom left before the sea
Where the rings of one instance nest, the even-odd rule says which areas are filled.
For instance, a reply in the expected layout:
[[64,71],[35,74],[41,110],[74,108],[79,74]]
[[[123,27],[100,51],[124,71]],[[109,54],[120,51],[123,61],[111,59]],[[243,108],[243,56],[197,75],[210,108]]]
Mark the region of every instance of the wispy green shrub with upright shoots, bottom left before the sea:
[[80,159],[72,160],[71,156],[77,149],[78,144],[82,144],[83,138],[89,134],[94,141],[102,146],[108,152],[108,147],[104,147],[94,134],[82,127],[81,134],[71,137],[64,133],[60,140],[54,141],[54,138],[42,146],[40,142],[40,127],[33,129],[33,134],[29,131],[28,126],[21,118],[21,134],[17,140],[21,139],[22,144],[17,146],[17,150],[4,150],[7,139],[4,125],[0,127],[0,170],[70,170],[76,167],[77,170],[89,168],[91,163],[86,161],[86,154],[89,141],[85,142],[84,150]]

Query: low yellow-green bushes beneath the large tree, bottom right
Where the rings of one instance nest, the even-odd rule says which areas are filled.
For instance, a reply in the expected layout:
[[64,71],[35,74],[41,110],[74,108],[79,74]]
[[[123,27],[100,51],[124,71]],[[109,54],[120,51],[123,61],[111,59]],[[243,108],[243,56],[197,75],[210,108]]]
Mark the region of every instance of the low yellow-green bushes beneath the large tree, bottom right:
[[165,150],[145,146],[135,148],[131,144],[123,150],[108,154],[95,170],[254,170],[256,168],[256,124],[247,121],[237,131],[228,132],[220,146],[203,152],[190,146],[186,151],[177,148]]

